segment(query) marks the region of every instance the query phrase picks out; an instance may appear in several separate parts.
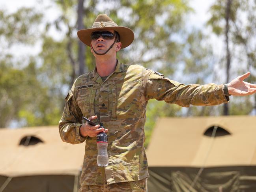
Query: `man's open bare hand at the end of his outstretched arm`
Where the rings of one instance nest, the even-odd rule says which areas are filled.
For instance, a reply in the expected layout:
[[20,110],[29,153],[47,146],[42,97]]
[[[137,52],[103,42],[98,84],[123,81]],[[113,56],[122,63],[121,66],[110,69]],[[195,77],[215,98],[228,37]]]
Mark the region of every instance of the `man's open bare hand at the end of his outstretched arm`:
[[233,79],[228,84],[228,93],[234,96],[245,96],[256,93],[256,84],[250,84],[248,82],[243,81],[245,78],[249,77],[249,75],[250,72],[247,72]]

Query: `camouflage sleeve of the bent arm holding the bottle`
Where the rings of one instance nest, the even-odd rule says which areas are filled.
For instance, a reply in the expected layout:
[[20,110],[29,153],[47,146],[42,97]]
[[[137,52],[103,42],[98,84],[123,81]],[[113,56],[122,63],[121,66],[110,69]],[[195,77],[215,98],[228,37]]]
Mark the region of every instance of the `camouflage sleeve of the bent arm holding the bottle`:
[[80,126],[82,125],[82,112],[77,105],[74,97],[75,83],[65,98],[65,106],[62,118],[59,121],[59,132],[62,141],[79,144],[86,140],[87,137],[80,135]]

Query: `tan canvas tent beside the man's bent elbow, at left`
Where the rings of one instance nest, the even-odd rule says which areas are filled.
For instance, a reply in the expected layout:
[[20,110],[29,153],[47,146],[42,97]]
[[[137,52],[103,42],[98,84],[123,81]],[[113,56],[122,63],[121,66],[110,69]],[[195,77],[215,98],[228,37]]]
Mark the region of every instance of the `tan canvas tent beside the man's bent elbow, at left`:
[[62,142],[58,126],[0,129],[0,192],[77,192],[84,144]]

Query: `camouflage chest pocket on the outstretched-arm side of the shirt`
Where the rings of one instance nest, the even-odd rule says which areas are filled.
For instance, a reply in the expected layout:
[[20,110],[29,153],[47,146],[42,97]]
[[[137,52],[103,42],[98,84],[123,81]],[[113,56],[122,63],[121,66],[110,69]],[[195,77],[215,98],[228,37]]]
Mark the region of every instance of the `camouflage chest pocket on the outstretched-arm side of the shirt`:
[[140,81],[115,85],[112,92],[112,120],[139,117],[142,85]]

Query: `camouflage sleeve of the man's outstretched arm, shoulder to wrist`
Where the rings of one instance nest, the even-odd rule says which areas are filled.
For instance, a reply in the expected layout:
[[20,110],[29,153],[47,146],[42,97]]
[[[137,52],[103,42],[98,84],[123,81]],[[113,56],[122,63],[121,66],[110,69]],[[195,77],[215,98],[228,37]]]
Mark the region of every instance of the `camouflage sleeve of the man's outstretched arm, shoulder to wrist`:
[[144,77],[146,99],[157,99],[183,107],[217,105],[229,101],[229,97],[224,95],[223,85],[184,85],[151,70]]

